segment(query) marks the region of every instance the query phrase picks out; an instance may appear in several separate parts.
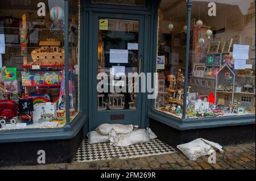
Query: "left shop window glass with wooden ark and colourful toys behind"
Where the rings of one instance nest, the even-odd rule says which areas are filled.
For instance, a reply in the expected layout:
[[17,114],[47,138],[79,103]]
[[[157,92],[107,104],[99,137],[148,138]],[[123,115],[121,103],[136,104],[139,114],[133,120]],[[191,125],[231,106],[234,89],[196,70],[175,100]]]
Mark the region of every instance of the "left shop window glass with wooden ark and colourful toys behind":
[[[78,112],[79,1],[69,1],[71,120]],[[0,131],[61,128],[64,0],[0,2]]]

